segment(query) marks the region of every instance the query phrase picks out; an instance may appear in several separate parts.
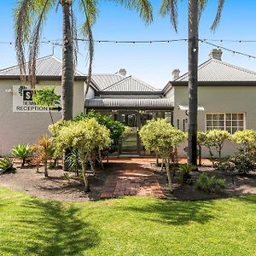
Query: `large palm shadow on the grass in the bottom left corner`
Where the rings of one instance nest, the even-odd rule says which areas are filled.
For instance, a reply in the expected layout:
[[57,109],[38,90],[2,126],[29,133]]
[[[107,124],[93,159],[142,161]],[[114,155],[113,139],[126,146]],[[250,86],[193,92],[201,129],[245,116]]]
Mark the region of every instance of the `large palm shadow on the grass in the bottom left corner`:
[[[79,208],[61,202],[26,200],[3,239],[2,253],[13,255],[80,255],[96,246],[96,231],[79,218]],[[29,215],[28,215],[29,214]]]

